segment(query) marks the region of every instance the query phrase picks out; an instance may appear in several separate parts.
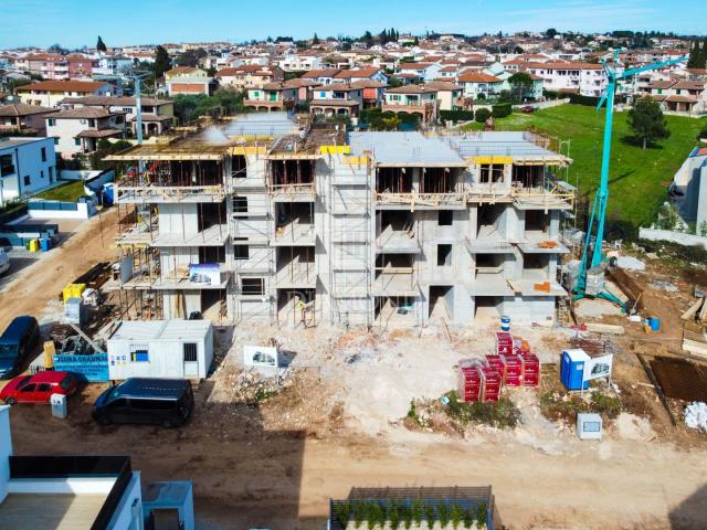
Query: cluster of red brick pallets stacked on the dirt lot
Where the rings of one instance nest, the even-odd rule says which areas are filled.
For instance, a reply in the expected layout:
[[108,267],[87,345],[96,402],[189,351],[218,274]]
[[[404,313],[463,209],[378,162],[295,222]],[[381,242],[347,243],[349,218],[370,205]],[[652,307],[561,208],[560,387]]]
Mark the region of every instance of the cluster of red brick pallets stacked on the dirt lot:
[[495,353],[460,362],[458,393],[465,402],[498,401],[502,386],[539,384],[540,360],[526,340],[506,331],[496,333]]

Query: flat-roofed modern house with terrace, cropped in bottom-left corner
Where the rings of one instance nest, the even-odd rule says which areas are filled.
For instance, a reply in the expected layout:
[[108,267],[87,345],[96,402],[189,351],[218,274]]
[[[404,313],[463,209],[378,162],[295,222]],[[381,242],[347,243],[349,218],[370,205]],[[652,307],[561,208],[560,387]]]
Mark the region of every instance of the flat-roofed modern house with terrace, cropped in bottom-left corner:
[[[191,480],[143,485],[129,456],[14,455],[0,406],[2,528],[194,529]],[[163,526],[162,526],[163,524]]]

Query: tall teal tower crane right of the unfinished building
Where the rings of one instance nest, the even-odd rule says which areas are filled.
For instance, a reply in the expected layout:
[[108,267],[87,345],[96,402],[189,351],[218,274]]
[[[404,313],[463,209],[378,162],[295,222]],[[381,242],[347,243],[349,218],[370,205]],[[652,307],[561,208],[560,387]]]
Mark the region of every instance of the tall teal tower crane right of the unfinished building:
[[[659,70],[673,64],[687,61],[689,57],[683,56],[672,59],[669,61],[656,62],[637,68],[629,68],[619,71],[619,50],[614,50],[613,66],[609,66],[605,59],[602,59],[601,66],[606,76],[606,88],[597,105],[599,112],[601,107],[606,105],[606,120],[604,123],[604,141],[601,158],[601,180],[597,194],[594,195],[594,205],[587,226],[587,237],[584,239],[582,259],[579,264],[579,271],[574,276],[572,293],[574,299],[584,297],[598,297],[613,301],[623,306],[621,300],[604,288],[604,263],[605,256],[602,255],[602,246],[604,243],[604,223],[606,220],[606,203],[609,201],[609,162],[611,160],[611,134],[614,117],[614,96],[616,86],[620,81],[634,77],[642,72]],[[594,234],[595,231],[595,234]],[[594,235],[593,235],[594,234]],[[593,248],[590,248],[591,240],[594,240]],[[591,258],[590,258],[591,253]]]

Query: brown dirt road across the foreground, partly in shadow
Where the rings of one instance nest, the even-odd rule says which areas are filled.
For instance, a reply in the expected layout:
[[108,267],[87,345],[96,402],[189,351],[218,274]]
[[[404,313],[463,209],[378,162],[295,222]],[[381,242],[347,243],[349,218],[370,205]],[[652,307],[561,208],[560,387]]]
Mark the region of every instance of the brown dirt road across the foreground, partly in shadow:
[[[98,391],[75,396],[67,423],[48,407],[13,406],[15,452],[129,454],[145,481],[191,478],[200,528],[320,529],[327,499],[351,486],[486,484],[511,529],[707,527],[704,448],[610,436],[574,439],[553,455],[513,433],[479,430],[463,441],[395,426],[368,436],[335,417],[314,430],[282,430],[270,425],[268,404],[209,404],[208,386],[198,390],[198,413],[186,427],[101,427],[89,418]],[[293,413],[306,406],[287,399]]]

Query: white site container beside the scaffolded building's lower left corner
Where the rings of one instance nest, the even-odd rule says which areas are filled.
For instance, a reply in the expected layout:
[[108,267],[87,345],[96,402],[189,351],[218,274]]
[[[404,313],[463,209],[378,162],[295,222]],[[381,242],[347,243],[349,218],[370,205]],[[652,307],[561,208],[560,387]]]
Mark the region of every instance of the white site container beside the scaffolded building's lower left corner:
[[209,320],[124,321],[107,340],[108,377],[203,379],[213,361]]

